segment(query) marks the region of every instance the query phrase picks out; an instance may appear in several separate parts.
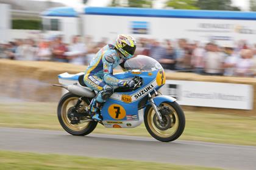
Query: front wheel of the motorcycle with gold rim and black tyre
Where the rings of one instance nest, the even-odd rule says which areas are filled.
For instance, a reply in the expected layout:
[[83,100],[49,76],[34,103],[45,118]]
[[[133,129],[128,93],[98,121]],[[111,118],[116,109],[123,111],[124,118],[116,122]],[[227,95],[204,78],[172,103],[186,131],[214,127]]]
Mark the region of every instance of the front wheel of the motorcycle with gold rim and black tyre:
[[185,115],[176,102],[163,102],[158,106],[163,122],[158,120],[152,106],[147,106],[144,123],[149,134],[160,141],[174,141],[182,135],[185,128]]

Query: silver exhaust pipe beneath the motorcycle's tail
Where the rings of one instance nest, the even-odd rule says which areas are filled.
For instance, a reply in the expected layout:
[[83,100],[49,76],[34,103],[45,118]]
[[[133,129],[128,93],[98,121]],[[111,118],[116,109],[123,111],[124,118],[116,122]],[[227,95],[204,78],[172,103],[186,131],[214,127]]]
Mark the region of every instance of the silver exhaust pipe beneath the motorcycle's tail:
[[53,84],[53,86],[63,87],[64,89],[68,90],[69,92],[71,92],[75,95],[82,96],[82,97],[93,98],[96,95],[93,92],[93,90],[91,90],[89,87],[81,87],[81,86],[77,86],[77,85],[62,86],[62,85],[59,85],[59,84]]

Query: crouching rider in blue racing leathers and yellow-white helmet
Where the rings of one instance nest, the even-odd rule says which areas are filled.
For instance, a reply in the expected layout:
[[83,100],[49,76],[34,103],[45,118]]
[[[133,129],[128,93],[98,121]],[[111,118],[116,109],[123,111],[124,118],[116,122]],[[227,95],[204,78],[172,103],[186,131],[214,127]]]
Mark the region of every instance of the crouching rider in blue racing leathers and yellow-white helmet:
[[136,41],[130,35],[118,35],[115,45],[107,44],[94,56],[85,71],[84,82],[99,93],[91,100],[90,114],[96,121],[102,120],[100,108],[109,98],[116,87],[129,87],[135,85],[132,79],[119,80],[113,75],[113,69],[121,66],[124,69],[126,60],[132,58],[136,49]]

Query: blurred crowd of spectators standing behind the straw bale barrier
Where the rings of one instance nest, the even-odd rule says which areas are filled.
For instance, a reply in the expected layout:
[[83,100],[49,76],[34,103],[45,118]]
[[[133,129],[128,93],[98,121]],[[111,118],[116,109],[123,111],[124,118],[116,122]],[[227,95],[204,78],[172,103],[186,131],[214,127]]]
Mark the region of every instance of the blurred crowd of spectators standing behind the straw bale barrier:
[[[59,61],[87,65],[94,54],[107,44],[102,38],[93,42],[90,36],[73,36],[70,44],[62,36],[51,38],[16,39],[0,44],[0,57],[10,60]],[[202,44],[187,39],[164,42],[138,38],[135,55],[148,55],[159,61],[165,70],[195,72],[201,75],[256,77],[256,45],[246,41],[235,46],[218,46],[215,42]]]

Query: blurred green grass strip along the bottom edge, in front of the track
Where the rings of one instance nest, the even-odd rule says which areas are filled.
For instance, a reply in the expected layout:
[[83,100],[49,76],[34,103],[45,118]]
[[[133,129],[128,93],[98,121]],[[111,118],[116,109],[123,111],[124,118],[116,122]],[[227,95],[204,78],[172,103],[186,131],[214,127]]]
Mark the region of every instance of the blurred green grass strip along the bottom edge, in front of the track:
[[181,166],[168,163],[146,161],[117,160],[108,158],[90,158],[56,154],[32,154],[21,152],[0,151],[0,169],[216,169],[201,166]]

